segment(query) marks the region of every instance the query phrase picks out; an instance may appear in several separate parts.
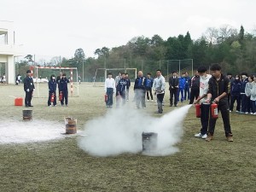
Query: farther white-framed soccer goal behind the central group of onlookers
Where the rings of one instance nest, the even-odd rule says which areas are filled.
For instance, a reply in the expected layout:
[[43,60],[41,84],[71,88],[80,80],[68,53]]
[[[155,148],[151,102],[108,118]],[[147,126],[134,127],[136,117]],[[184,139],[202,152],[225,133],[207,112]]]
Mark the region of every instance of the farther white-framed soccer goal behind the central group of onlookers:
[[[133,71],[133,72],[130,74],[129,71]],[[116,75],[114,75],[113,73],[113,79],[115,78],[115,76],[118,75],[119,72],[129,73],[131,79],[137,79],[137,68],[97,68],[94,76],[93,85],[96,84],[96,81],[98,81],[98,79],[100,80],[100,82],[102,82],[102,75],[104,75],[103,82],[105,82],[105,79],[108,78],[108,72],[116,73]],[[98,76],[100,76],[100,78],[98,78]]]

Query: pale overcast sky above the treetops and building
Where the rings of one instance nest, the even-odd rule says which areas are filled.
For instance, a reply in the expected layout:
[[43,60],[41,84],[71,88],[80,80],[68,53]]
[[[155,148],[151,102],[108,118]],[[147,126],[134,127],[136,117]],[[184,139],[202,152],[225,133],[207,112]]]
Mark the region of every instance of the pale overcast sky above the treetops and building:
[[225,24],[252,32],[255,8],[255,0],[1,0],[0,20],[14,21],[24,55],[71,58],[79,48],[94,56],[142,35],[166,40],[189,31],[197,39]]

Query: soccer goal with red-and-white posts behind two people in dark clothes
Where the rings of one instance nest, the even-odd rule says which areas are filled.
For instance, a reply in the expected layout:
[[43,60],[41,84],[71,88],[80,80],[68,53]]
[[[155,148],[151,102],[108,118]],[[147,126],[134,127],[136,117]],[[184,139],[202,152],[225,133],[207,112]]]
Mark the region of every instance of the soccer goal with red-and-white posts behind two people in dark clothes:
[[[31,68],[33,69],[33,68]],[[55,74],[55,77],[59,75],[59,73],[66,73],[67,79],[69,79],[70,84],[68,84],[68,90],[70,92],[70,96],[79,96],[79,73],[77,67],[35,67],[36,76],[33,77],[34,82],[37,84],[36,95],[38,97],[48,96],[48,84],[49,78],[42,80],[40,72],[43,74],[43,71],[51,71],[52,74]],[[48,72],[49,74],[49,72]],[[47,77],[47,76],[46,76]],[[47,93],[47,94],[45,94]]]

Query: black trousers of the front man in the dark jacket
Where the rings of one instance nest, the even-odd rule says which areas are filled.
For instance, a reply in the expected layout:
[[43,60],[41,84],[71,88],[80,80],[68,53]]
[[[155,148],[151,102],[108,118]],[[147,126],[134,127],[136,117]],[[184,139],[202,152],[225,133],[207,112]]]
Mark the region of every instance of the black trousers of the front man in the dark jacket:
[[[221,112],[221,116],[224,123],[224,131],[225,136],[228,137],[232,135],[231,127],[230,127],[230,110],[229,110],[229,102],[219,102],[218,103],[218,111]],[[212,119],[212,112],[210,111],[210,122],[209,122],[209,133],[213,136],[215,125],[217,119]]]

